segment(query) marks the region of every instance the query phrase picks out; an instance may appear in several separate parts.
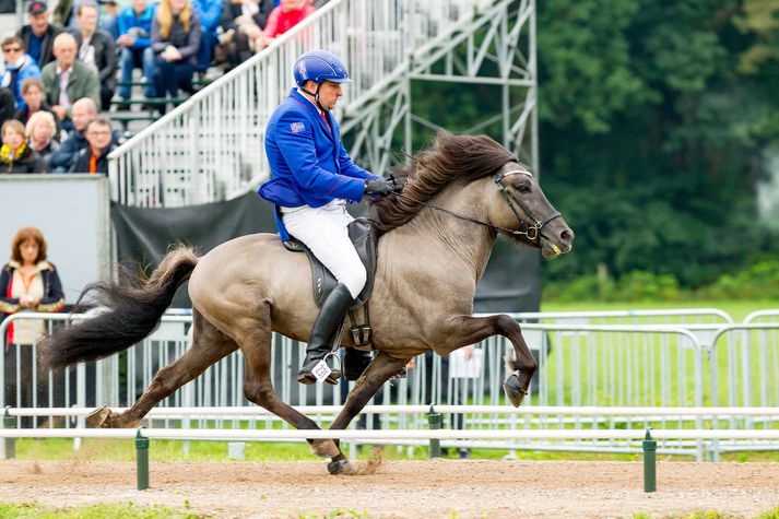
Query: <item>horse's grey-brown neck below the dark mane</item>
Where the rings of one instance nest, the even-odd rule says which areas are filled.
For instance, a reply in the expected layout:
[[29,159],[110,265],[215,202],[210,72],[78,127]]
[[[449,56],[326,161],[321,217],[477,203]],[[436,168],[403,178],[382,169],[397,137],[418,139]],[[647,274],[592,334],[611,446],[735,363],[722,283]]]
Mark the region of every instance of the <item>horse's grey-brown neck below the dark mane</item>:
[[[430,203],[479,220],[485,219],[481,189],[451,186]],[[441,269],[440,278],[473,275],[479,282],[489,260],[495,233],[473,222],[460,220],[432,208],[424,208],[408,224],[389,233],[388,245],[400,253],[413,255],[432,264],[458,264],[462,269]],[[446,261],[444,261],[446,259]]]

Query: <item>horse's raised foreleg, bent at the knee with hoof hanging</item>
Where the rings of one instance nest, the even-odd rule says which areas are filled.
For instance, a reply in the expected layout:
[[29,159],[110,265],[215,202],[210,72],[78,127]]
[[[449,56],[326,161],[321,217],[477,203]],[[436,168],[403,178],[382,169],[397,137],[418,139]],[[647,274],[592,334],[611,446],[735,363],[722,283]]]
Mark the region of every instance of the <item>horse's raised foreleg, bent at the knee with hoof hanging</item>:
[[506,367],[509,371],[518,373],[511,373],[504,381],[503,387],[511,404],[518,408],[524,396],[528,394],[530,379],[538,368],[538,363],[522,338],[519,323],[506,315],[461,316],[452,320],[447,332],[450,341],[453,342],[452,350],[475,344],[492,335],[503,335],[511,341],[515,358],[506,358]]

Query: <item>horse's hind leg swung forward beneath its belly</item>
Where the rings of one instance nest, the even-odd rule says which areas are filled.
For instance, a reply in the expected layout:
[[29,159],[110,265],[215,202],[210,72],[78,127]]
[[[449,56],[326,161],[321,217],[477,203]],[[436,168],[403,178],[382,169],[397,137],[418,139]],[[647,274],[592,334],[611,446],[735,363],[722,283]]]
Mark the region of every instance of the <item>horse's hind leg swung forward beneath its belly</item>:
[[[269,306],[257,312],[258,321],[249,321],[246,330],[238,330],[240,351],[246,364],[244,391],[246,398],[267,409],[297,429],[318,429],[319,426],[305,414],[282,402],[271,382],[271,309]],[[316,456],[335,458],[341,450],[331,439],[309,439]]]

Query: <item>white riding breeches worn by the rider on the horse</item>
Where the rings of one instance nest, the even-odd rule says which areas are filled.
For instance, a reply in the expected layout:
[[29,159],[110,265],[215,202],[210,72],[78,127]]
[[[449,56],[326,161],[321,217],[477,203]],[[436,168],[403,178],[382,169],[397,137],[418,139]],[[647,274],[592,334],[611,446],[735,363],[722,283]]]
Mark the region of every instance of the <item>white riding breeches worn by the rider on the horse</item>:
[[347,225],[354,220],[343,200],[333,200],[321,208],[282,208],[286,231],[311,249],[339,283],[357,297],[365,286],[365,267],[349,239]]

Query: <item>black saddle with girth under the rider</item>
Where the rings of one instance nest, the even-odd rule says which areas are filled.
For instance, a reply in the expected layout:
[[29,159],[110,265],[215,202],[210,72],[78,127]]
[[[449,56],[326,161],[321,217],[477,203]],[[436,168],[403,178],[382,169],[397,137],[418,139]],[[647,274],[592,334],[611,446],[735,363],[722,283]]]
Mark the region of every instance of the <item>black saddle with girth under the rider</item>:
[[[370,298],[370,293],[374,291],[374,279],[376,278],[376,239],[374,238],[370,222],[365,217],[355,219],[349,224],[349,238],[357,250],[357,255],[363,261],[365,271],[367,272],[365,286],[349,309],[349,319],[352,323],[350,331],[355,346],[367,346],[370,344],[373,338],[368,299]],[[318,308],[321,308],[327,295],[338,284],[335,276],[302,241],[291,236],[290,240],[284,241],[284,247],[293,252],[306,252],[306,256],[308,256],[308,260],[311,263],[311,278],[314,280],[314,302]],[[359,308],[364,308],[364,322],[359,322],[357,318],[357,310],[359,310]]]

